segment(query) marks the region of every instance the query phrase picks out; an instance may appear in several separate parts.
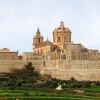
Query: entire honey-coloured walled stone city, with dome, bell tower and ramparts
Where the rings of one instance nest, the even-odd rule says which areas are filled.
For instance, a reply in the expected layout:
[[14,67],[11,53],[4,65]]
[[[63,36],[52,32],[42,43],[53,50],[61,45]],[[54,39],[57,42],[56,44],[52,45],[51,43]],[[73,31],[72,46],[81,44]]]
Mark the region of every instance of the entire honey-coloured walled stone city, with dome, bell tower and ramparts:
[[[65,27],[62,21],[52,32],[53,42],[48,38],[44,41],[40,30],[37,29],[33,37],[32,52],[23,52],[19,58],[18,52],[9,51],[12,59],[0,60],[0,72],[22,68],[31,61],[41,74],[51,75],[56,79],[69,80],[73,77],[77,80],[100,81],[99,50],[73,43],[71,34],[71,30]],[[0,53],[3,55],[4,52]]]

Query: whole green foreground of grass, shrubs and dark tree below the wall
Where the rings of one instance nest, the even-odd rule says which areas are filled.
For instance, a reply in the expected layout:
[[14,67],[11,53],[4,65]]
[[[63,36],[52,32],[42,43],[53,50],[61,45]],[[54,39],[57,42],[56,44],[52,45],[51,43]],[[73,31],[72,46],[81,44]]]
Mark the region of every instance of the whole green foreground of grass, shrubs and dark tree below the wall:
[[[62,91],[55,89],[59,84]],[[41,76],[28,63],[0,75],[0,100],[100,100],[100,82],[52,79]]]

